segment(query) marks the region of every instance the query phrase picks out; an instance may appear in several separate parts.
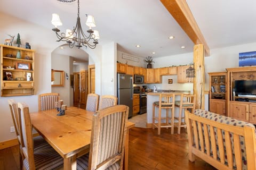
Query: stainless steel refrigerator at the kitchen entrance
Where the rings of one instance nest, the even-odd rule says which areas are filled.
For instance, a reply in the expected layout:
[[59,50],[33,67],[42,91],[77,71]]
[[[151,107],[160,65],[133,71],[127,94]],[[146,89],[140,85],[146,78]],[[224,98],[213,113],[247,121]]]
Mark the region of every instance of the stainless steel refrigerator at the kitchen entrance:
[[132,117],[133,78],[128,74],[117,74],[117,97],[119,105],[129,107],[129,118]]

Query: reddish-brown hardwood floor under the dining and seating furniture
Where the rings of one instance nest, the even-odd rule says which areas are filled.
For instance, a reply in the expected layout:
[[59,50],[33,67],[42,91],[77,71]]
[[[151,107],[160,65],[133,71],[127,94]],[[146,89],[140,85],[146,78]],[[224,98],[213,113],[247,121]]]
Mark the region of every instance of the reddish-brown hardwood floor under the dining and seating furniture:
[[[159,170],[210,170],[215,169],[196,158],[195,163],[188,160],[188,142],[185,130],[181,134],[171,134],[170,129],[132,128],[129,135],[129,169],[159,169]],[[0,170],[19,169],[19,147],[0,150]]]

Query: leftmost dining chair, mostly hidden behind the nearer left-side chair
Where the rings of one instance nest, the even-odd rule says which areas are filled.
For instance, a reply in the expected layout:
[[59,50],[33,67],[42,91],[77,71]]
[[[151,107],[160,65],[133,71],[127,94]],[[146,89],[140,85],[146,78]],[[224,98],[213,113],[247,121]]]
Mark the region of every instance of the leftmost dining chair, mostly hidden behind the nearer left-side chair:
[[[19,142],[19,146],[20,146],[20,154],[19,154],[19,159],[20,159],[20,169],[22,169],[22,161],[23,161],[23,154],[22,154],[22,146],[23,141],[21,140],[21,127],[20,127],[20,119],[18,116],[18,107],[17,107],[17,103],[13,100],[13,99],[9,99],[8,100],[9,103],[9,107],[10,107],[10,111],[11,111],[11,116],[12,116],[12,121],[14,124],[14,129],[15,129],[15,133],[17,135],[17,139]],[[44,143],[47,143],[43,137],[41,136],[37,136],[33,138],[34,141],[34,147],[40,147],[41,145],[44,145]]]

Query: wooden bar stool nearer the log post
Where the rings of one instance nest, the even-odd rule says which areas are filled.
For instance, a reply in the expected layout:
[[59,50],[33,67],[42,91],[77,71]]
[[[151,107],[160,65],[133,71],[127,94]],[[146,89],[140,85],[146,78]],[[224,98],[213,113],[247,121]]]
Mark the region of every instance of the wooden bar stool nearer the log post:
[[[174,120],[178,120],[178,125],[175,125],[178,128],[178,134],[180,134],[180,128],[181,127],[185,127],[186,128],[186,124],[185,124],[185,111],[187,111],[187,109],[190,109],[191,112],[193,113],[195,112],[195,105],[196,105],[196,100],[195,100],[195,95],[185,95],[182,94],[180,96],[180,101],[175,101],[175,107],[179,107],[179,117],[175,117],[174,116]],[[183,117],[182,117],[182,109],[184,109],[183,112]],[[182,122],[183,120],[183,122]]]

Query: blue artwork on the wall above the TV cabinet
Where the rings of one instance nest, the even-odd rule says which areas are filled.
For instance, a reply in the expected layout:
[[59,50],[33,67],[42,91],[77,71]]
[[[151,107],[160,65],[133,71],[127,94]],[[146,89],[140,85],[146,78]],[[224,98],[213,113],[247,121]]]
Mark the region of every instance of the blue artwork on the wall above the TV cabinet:
[[239,53],[239,67],[256,65],[256,52]]

